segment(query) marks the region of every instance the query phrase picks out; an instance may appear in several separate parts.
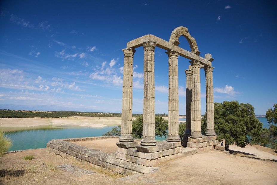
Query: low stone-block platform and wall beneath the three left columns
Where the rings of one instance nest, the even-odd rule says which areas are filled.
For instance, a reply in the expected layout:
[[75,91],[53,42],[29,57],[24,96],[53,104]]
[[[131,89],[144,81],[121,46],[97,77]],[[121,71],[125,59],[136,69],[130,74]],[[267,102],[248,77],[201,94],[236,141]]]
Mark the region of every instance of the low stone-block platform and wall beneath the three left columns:
[[77,141],[119,138],[101,136],[73,139],[53,139],[47,143],[47,150],[64,158],[70,158],[92,167],[123,175],[149,173],[158,170],[154,165],[173,158],[190,156],[198,152],[196,148],[184,148],[181,142],[157,142],[156,146],[119,147],[115,154],[78,145]]

